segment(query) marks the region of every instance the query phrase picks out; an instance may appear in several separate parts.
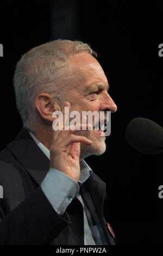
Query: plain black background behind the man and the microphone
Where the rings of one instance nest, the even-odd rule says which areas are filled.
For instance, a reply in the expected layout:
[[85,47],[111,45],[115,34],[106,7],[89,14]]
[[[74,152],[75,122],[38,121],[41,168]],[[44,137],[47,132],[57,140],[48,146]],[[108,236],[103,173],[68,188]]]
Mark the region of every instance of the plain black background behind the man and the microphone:
[[15,106],[12,77],[21,54],[58,38],[82,40],[97,51],[118,111],[111,116],[111,135],[102,156],[86,159],[106,182],[104,216],[116,242],[163,244],[162,155],[132,149],[124,138],[135,117],[162,120],[163,8],[160,2],[1,1],[1,143],[15,138],[22,122]]

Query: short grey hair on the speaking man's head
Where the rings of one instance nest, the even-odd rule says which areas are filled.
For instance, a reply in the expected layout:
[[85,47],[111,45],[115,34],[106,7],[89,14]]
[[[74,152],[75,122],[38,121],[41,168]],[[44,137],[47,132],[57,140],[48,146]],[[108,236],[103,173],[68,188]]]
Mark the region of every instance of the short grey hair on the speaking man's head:
[[28,130],[34,131],[40,119],[35,107],[37,95],[48,93],[64,104],[68,86],[77,81],[70,58],[80,52],[97,58],[97,53],[82,41],[58,39],[32,48],[18,61],[14,74],[16,106]]

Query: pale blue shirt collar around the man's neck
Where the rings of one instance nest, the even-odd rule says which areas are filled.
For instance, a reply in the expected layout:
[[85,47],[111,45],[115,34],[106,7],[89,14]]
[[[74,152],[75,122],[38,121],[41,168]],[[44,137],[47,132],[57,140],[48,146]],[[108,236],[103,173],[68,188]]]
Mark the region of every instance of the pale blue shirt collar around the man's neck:
[[[39,139],[37,139],[31,131],[28,131],[30,136],[34,139],[37,146],[42,150],[42,152],[47,156],[50,160],[50,151],[43,145]],[[80,160],[80,177],[79,177],[79,186],[82,186],[84,182],[89,178],[92,173],[92,169],[90,166],[84,161],[84,159]]]

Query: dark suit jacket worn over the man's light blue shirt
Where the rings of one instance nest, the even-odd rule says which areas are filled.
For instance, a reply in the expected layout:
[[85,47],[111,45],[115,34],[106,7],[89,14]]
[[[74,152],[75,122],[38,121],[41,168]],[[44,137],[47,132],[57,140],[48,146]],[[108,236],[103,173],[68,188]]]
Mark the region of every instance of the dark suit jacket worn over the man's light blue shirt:
[[[74,198],[64,215],[55,212],[40,187],[48,170],[48,158],[24,128],[0,152],[0,245],[84,245],[83,206]],[[86,186],[114,245],[103,217],[105,183],[92,173]]]

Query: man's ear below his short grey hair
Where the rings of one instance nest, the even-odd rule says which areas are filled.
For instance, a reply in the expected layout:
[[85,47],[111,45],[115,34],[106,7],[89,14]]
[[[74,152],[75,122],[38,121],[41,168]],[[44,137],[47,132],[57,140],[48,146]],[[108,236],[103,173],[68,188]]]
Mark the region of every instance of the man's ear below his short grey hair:
[[35,99],[35,107],[42,119],[47,121],[54,121],[52,114],[54,111],[60,111],[60,105],[55,101],[51,95],[47,93],[40,93]]

